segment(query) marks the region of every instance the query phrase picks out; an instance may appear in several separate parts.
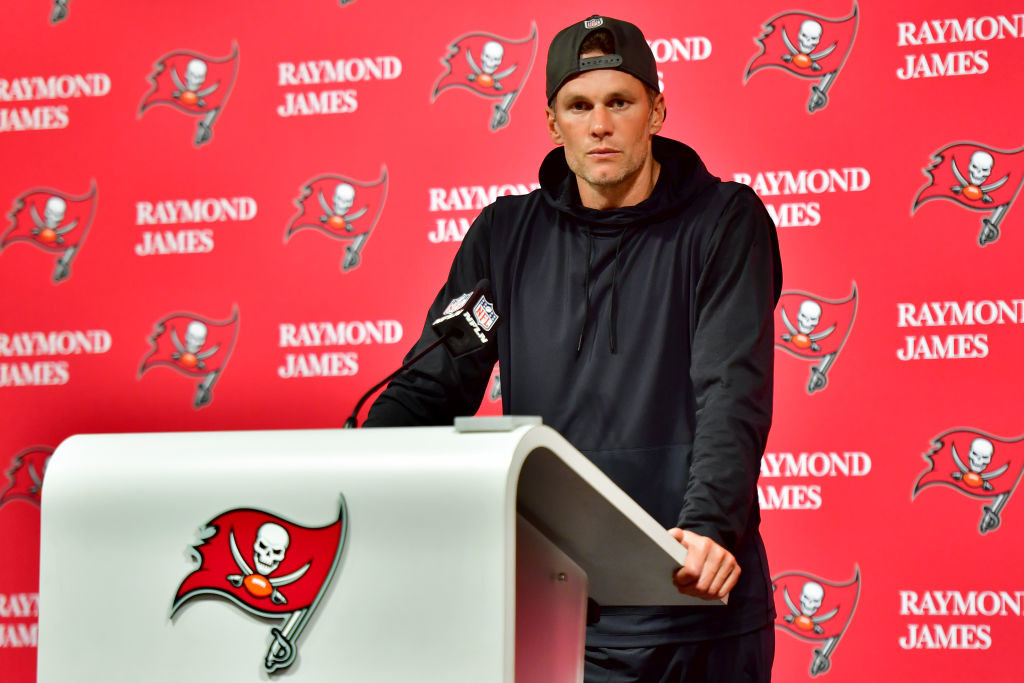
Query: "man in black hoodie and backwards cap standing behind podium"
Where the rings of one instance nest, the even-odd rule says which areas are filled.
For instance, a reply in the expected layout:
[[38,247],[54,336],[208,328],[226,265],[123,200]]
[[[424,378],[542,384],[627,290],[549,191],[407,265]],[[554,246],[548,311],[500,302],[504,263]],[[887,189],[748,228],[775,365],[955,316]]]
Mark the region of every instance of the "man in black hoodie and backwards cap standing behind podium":
[[[768,681],[774,607],[757,478],[771,423],[775,228],[666,116],[640,30],[591,16],[552,41],[541,189],[473,223],[429,322],[481,279],[497,345],[435,351],[395,379],[367,426],[473,414],[495,360],[508,414],[540,415],[687,548],[672,581],[727,606],[605,607],[588,681]],[[666,578],[669,581],[669,578]]]

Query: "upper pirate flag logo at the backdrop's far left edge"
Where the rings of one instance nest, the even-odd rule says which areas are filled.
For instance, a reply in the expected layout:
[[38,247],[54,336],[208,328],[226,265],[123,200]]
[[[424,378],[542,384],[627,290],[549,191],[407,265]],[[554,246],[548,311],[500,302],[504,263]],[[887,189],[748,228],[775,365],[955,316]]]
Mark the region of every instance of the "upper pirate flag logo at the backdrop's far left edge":
[[15,200],[7,217],[10,226],[0,240],[0,250],[14,242],[28,242],[43,251],[59,254],[53,267],[53,283],[71,274],[96,213],[96,183],[86,195],[75,197],[47,187],[33,187]]

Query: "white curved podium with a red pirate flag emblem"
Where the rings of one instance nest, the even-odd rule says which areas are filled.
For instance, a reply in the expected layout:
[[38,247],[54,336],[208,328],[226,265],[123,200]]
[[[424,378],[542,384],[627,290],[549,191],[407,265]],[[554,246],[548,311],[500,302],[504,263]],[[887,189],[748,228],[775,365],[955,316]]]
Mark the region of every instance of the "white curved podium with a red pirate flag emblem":
[[695,602],[670,581],[685,550],[516,420],[69,438],[38,680],[582,680],[587,596]]

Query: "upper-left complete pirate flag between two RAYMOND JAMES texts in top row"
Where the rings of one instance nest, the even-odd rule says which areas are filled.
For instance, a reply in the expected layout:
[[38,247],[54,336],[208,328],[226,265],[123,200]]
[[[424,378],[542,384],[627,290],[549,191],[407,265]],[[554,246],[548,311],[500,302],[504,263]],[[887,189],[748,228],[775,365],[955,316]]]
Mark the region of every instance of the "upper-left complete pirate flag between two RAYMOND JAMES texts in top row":
[[239,72],[239,46],[219,59],[199,52],[178,50],[157,59],[150,82],[153,89],[142,98],[138,115],[157,104],[173,106],[179,112],[203,117],[196,130],[199,146],[213,136],[213,121],[220,114],[234,85]]

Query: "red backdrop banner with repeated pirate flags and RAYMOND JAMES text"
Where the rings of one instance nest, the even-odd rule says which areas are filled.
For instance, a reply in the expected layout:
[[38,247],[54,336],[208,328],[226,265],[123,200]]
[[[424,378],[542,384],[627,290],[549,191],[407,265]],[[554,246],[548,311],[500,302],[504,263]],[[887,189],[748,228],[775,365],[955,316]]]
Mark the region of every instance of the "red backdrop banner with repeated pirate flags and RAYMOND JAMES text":
[[[3,680],[35,679],[56,445],[340,426],[415,340],[474,216],[538,186],[547,46],[602,11],[650,41],[665,134],[750,184],[778,224],[776,417],[758,492],[775,679],[1017,680],[1012,4],[5,5]],[[500,396],[493,382],[481,411]]]

